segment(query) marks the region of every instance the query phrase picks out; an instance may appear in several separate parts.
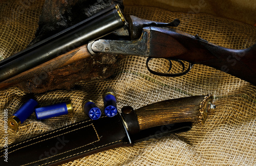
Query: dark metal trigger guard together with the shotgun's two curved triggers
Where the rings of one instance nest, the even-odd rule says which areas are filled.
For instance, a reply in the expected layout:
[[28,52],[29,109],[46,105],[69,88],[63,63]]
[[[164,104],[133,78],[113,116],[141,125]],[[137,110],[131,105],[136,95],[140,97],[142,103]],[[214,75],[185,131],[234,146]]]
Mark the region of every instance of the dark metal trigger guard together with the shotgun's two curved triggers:
[[[150,71],[152,74],[159,75],[159,76],[168,76],[168,77],[182,76],[182,75],[188,73],[190,71],[190,69],[193,67],[193,64],[191,64],[189,62],[187,63],[187,65],[185,65],[184,62],[182,62],[181,60],[174,60],[174,59],[166,58],[166,60],[169,62],[169,69],[168,69],[168,71],[166,73],[165,72],[158,72],[158,71],[154,71],[154,70],[150,69],[150,67],[148,66],[148,63],[152,59],[156,59],[156,58],[149,57],[146,60],[147,70]],[[161,59],[163,59],[163,58],[161,58]],[[178,62],[182,66],[182,72],[179,72],[179,73],[168,73],[172,69],[172,67],[173,67],[173,62],[172,61]],[[185,70],[185,68],[186,68],[186,70]]]

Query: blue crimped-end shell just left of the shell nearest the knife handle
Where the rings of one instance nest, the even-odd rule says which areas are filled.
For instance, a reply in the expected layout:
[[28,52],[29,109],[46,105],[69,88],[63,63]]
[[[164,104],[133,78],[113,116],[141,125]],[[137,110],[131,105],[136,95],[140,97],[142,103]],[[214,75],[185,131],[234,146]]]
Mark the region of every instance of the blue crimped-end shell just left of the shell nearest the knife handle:
[[101,116],[100,109],[95,105],[92,100],[88,100],[83,103],[83,111],[93,120],[99,119],[99,117]]

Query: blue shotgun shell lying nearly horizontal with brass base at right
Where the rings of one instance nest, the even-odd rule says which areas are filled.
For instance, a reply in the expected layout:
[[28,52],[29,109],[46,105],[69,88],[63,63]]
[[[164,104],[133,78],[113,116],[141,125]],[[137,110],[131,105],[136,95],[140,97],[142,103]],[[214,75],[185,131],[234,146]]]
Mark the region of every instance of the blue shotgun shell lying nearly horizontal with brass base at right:
[[72,113],[73,107],[71,102],[62,102],[58,104],[35,108],[35,115],[37,120],[44,120]]

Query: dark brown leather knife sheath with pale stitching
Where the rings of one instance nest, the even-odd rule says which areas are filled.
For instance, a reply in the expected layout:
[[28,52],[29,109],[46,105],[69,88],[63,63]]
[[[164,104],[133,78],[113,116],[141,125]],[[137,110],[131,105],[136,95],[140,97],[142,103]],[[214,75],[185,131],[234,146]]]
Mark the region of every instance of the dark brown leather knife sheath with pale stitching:
[[[187,131],[191,123],[177,123],[142,130],[129,135],[120,115],[84,120],[32,137],[8,147],[8,162],[1,150],[0,165],[59,165],[100,151],[132,146],[133,143]],[[129,141],[132,140],[132,144]]]

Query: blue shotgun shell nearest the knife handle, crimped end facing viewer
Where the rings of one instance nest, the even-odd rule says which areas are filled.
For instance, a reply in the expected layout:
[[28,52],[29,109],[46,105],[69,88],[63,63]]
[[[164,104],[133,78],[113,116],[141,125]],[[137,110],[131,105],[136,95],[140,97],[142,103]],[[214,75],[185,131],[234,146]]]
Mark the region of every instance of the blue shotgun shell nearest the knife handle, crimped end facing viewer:
[[112,92],[108,92],[103,97],[104,113],[108,117],[114,117],[117,114],[116,97]]

